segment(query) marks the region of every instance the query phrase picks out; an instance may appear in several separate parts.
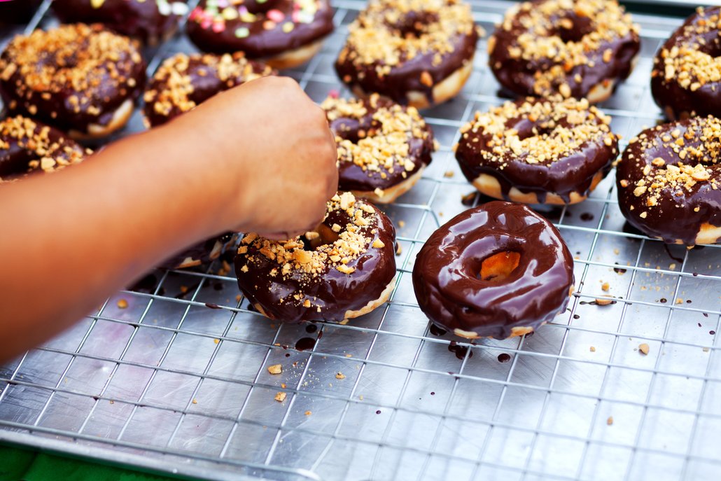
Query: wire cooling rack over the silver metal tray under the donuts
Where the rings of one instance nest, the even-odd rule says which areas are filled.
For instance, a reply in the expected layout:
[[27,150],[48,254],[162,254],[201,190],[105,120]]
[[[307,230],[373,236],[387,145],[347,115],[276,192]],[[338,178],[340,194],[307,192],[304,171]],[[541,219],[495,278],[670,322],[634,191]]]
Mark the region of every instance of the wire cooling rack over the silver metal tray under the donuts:
[[[48,5],[25,30],[56,24]],[[341,88],[332,63],[363,8],[335,5],[322,53],[288,72],[317,101]],[[474,16],[491,31],[508,6],[477,1]],[[642,58],[602,106],[626,139],[659,120],[651,58],[681,23],[635,19]],[[149,71],[189,50],[177,35],[147,52]],[[402,247],[392,301],[348,325],[280,325],[248,309],[220,262],[156,270],[0,368],[0,441],[219,480],[717,480],[721,250],[624,229],[611,178],[543,211],[575,255],[568,312],[513,340],[429,331],[410,272],[461,198],[480,201],[451,146],[475,110],[503,102],[485,51],[461,95],[425,112],[441,143],[425,177],[384,207]],[[596,305],[605,294],[614,304]]]

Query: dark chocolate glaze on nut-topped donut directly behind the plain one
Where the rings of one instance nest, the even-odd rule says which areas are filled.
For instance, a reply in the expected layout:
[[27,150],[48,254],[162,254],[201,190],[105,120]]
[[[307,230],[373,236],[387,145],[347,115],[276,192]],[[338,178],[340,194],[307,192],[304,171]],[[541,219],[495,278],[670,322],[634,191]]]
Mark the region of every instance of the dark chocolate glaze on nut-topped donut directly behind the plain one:
[[[535,104],[549,101],[528,98],[513,103],[520,106],[524,102]],[[585,121],[591,125],[603,124],[603,120],[598,118],[598,115],[593,115]],[[517,131],[521,140],[537,133],[541,136],[550,133],[554,127],[570,127],[567,118],[561,118],[559,122],[551,125],[548,122],[549,118],[537,118],[531,121],[527,115],[518,115],[508,118],[505,126],[507,131]],[[508,193],[511,187],[516,187],[523,193],[535,193],[539,203],[545,202],[548,193],[556,193],[569,203],[572,192],[588,195],[593,177],[598,172],[603,172],[605,177],[619,154],[615,136],[610,145],[606,141],[608,136],[598,136],[585,141],[578,150],[562,158],[549,157],[544,162],[529,164],[524,161],[523,155],[518,156],[511,149],[503,151],[503,154],[492,151],[487,145],[492,138],[492,134],[485,134],[482,128],[477,131],[467,131],[461,136],[456,149],[456,159],[469,182],[473,182],[481,174],[495,177],[500,183],[504,200],[510,200]],[[484,152],[489,154],[490,158],[483,156]]]

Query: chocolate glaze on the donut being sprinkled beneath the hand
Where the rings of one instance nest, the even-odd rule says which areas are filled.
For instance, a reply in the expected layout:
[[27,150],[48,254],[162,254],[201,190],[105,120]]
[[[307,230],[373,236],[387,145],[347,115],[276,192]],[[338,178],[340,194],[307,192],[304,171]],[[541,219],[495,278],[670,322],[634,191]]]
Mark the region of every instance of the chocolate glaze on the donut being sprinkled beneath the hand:
[[[356,206],[371,206],[360,199],[355,202]],[[273,319],[283,322],[342,321],[348,310],[361,309],[369,301],[379,299],[396,275],[395,229],[390,219],[374,206],[373,212],[368,226],[359,229],[370,239],[368,249],[347,264],[349,268],[355,268],[353,273],[344,274],[336,268],[326,267],[312,277],[298,270],[293,270],[290,275],[271,275],[272,270],[279,270],[278,263],[262,255],[255,244],[249,244],[247,252],[239,254],[235,260],[240,290]],[[332,211],[323,225],[328,228],[333,224],[345,226],[349,221],[345,211]],[[384,246],[372,247],[376,239]],[[255,262],[249,262],[251,258]],[[244,269],[246,265],[247,269]],[[293,294],[298,293],[303,296],[294,299]],[[309,307],[304,306],[304,299],[310,301]]]

